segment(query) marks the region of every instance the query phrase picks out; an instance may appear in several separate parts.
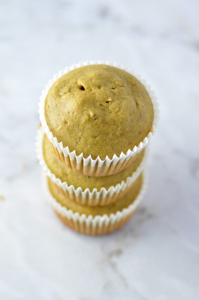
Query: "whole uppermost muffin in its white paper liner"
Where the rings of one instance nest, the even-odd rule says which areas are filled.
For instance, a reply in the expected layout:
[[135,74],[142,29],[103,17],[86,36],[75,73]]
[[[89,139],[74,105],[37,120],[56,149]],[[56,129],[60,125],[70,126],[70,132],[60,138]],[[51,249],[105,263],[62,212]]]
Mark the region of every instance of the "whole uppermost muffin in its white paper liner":
[[153,96],[141,81],[97,63],[60,72],[40,104],[42,126],[56,155],[90,176],[111,175],[130,165],[157,122]]

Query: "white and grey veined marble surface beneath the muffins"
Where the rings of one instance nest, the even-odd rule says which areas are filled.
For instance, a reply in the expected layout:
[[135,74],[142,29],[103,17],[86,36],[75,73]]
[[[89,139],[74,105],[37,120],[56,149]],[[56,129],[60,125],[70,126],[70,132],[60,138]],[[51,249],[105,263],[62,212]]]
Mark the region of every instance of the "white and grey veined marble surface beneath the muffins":
[[[199,299],[197,1],[1,1],[0,299]],[[119,231],[57,219],[35,154],[38,102],[66,65],[107,59],[159,98],[150,185]]]

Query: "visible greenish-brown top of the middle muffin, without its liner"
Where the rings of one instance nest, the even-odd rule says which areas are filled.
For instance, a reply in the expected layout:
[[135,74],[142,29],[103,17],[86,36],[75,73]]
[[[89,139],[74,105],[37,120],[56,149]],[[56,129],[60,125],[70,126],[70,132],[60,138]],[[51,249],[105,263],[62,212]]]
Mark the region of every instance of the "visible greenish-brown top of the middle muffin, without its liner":
[[131,176],[141,163],[144,151],[145,149],[136,156],[129,167],[121,172],[110,176],[92,177],[75,172],[71,168],[66,167],[54,154],[48,137],[44,135],[43,139],[43,157],[51,172],[54,173],[57,178],[60,178],[62,182],[67,182],[68,186],[73,184],[75,189],[81,187],[83,191],[88,187],[91,192],[94,188],[99,192],[102,187],[108,189],[112,185],[116,186],[116,184],[121,183],[122,180],[126,181],[127,177]]

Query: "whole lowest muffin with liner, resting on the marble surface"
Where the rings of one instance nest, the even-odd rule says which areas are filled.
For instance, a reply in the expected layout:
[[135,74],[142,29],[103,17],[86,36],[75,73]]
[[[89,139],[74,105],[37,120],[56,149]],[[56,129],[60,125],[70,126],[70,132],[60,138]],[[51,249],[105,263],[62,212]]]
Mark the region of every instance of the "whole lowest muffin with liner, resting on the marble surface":
[[45,183],[51,205],[62,222],[88,235],[106,234],[124,225],[133,215],[146,190],[146,176],[141,174],[133,188],[118,201],[107,206],[89,207],[68,199],[46,176]]

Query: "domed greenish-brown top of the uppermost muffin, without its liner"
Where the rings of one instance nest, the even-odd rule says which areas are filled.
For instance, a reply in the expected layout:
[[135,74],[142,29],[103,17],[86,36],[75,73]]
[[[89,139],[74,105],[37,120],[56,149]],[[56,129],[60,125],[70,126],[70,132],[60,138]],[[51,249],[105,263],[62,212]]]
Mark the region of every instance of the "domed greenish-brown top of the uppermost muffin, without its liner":
[[154,119],[145,86],[126,71],[103,64],[60,77],[48,91],[44,113],[53,136],[70,152],[102,160],[138,146]]

